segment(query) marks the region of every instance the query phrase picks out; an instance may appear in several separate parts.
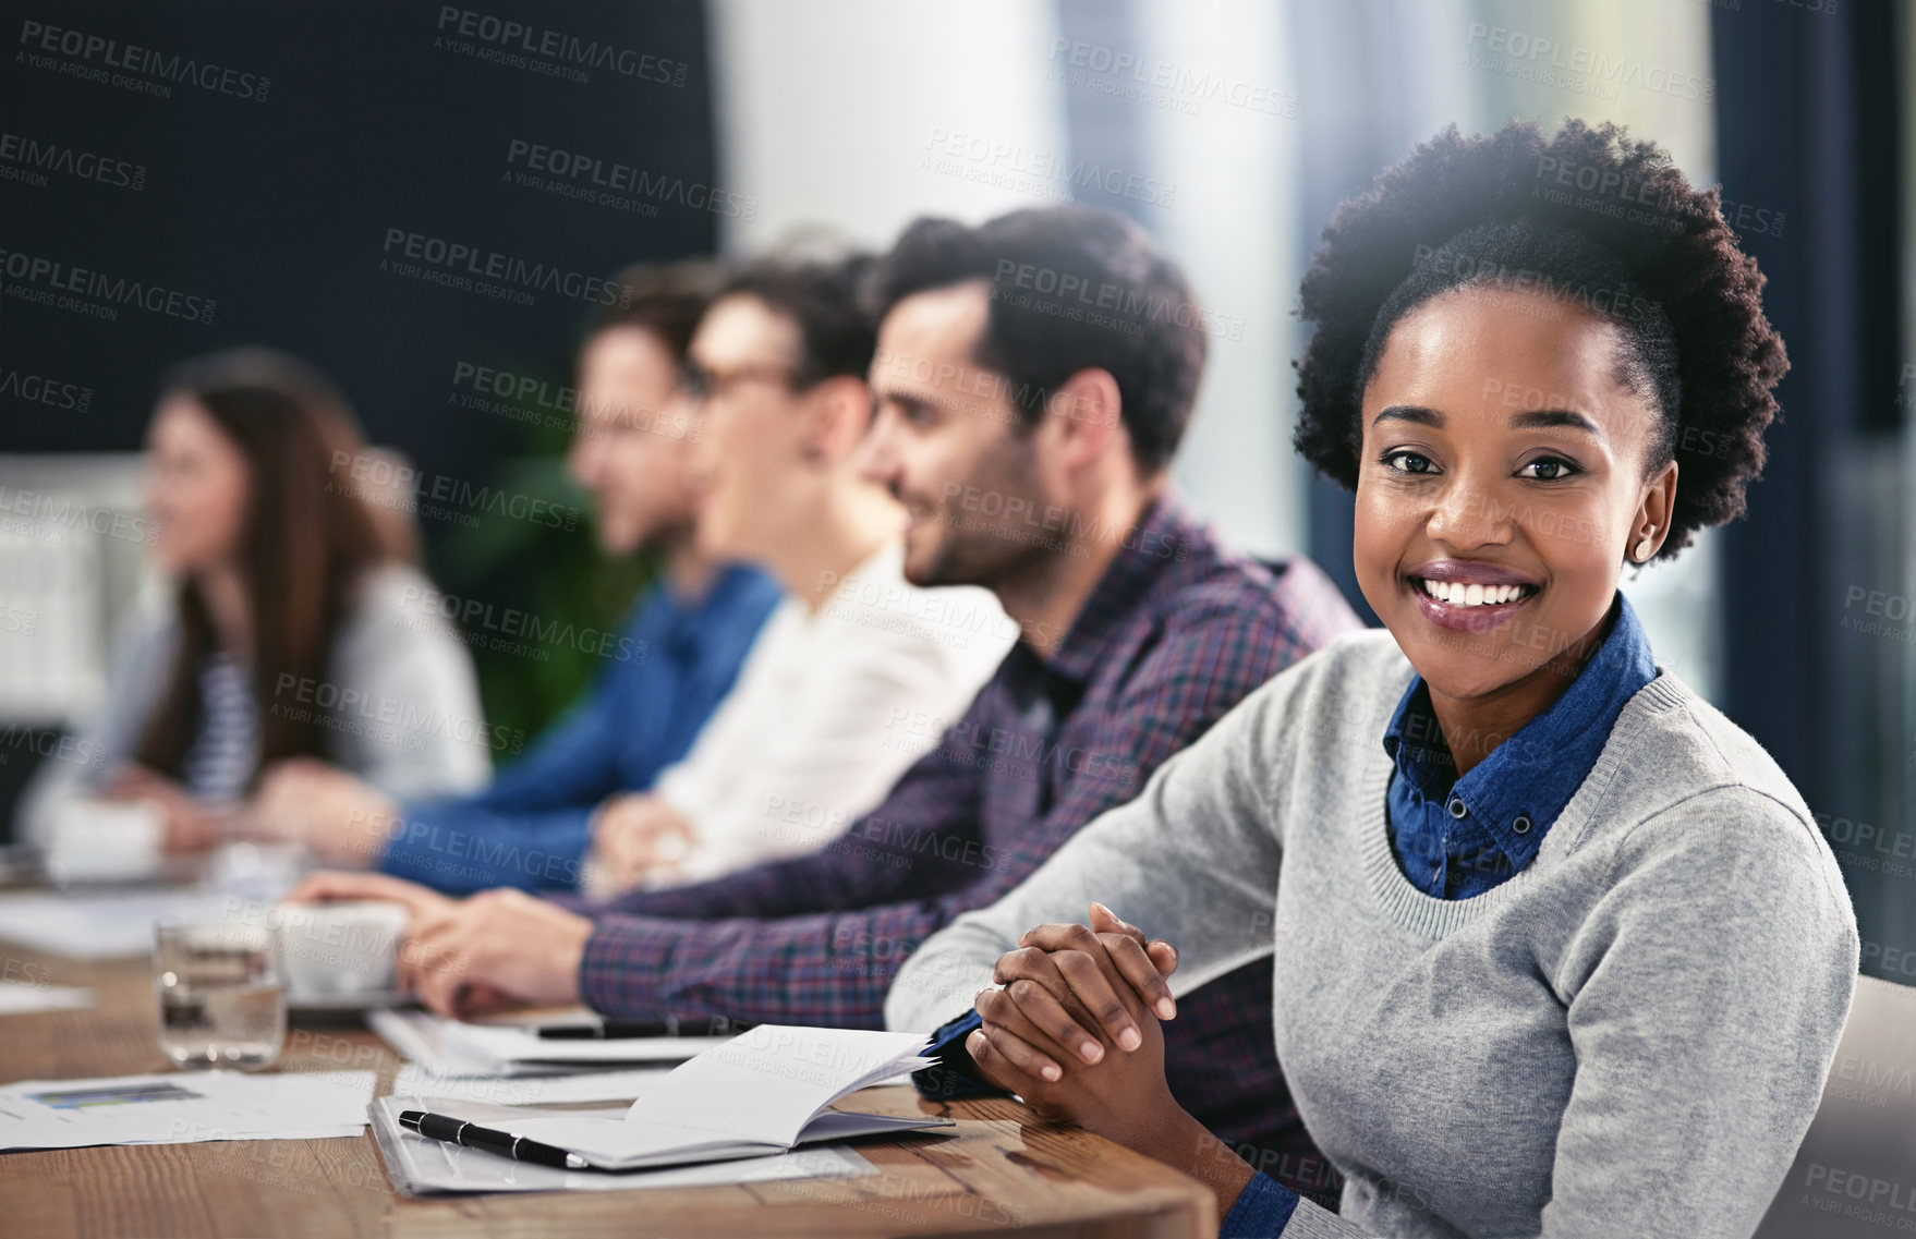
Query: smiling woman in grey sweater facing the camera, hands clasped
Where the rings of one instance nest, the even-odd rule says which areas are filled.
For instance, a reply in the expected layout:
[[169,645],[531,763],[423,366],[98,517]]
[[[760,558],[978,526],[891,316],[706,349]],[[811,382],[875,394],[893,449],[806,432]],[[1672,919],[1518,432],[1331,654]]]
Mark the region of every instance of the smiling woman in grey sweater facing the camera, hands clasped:
[[[1297,446],[1357,492],[1385,630],[933,936],[887,1021],[950,1021],[952,1067],[1203,1180],[1226,1235],[1744,1239],[1816,1111],[1855,913],[1617,580],[1744,511],[1786,368],[1763,278],[1713,190],[1575,121],[1450,128],[1324,241]],[[1165,1086],[1176,996],[1265,954],[1335,1214]]]

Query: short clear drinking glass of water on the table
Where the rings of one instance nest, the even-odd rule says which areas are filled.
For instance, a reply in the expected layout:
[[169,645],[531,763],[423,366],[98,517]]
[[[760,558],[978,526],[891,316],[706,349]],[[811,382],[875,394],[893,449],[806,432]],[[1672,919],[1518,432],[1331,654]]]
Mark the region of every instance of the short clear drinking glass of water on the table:
[[159,1048],[178,1067],[257,1070],[285,1042],[280,935],[270,925],[165,921],[153,929]]

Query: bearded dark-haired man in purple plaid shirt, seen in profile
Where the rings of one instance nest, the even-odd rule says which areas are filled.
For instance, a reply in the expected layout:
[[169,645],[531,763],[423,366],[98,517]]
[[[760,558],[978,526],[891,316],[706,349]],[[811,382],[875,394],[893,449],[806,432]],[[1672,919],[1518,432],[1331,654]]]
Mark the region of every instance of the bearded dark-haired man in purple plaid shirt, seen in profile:
[[[1140,228],[1086,207],[979,228],[920,220],[874,285],[868,469],[912,515],[906,576],[994,590],[1019,624],[1012,655],[956,722],[893,720],[943,737],[809,856],[565,908],[517,890],[427,900],[374,890],[372,875],[308,881],[303,896],[416,904],[416,954],[435,963],[410,971],[435,1009],[510,996],[632,1021],[881,1028],[920,942],[1358,626],[1309,559],[1230,553],[1171,494],[1203,333],[1182,274]],[[899,619],[964,638],[966,617]],[[803,726],[803,703],[793,714]],[[766,806],[764,827],[807,820]],[[1192,1113],[1266,1166],[1276,1157],[1274,1178],[1322,1187],[1299,1182],[1312,1149],[1295,1111],[1268,1105],[1282,1095],[1268,967],[1198,990],[1165,1034]]]

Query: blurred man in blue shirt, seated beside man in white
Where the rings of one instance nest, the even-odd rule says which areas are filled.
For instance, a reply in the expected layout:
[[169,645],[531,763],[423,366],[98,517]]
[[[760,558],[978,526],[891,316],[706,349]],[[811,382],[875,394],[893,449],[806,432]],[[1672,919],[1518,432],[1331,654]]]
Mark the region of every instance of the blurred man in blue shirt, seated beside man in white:
[[[619,640],[602,642],[605,672],[475,795],[399,804],[318,762],[282,766],[261,789],[261,820],[276,833],[331,864],[448,892],[569,890],[600,802],[650,787],[730,691],[780,594],[753,567],[711,561],[692,536],[697,410],[678,373],[715,272],[640,268],[619,282],[630,301],[607,306],[579,352],[579,425],[565,463],[592,492],[605,553],[651,552],[661,574]],[[414,605],[418,622],[458,630],[458,603],[427,596]]]

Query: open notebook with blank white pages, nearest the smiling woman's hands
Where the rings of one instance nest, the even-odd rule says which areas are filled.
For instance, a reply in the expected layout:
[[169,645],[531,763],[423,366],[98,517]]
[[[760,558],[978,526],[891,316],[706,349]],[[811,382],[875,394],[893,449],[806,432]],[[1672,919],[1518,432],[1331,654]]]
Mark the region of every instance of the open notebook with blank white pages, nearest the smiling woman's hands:
[[950,1126],[925,1115],[855,1115],[833,1101],[927,1067],[922,1032],[759,1025],[659,1076],[625,1118],[567,1115],[512,1124],[596,1170],[784,1153],[801,1143]]

